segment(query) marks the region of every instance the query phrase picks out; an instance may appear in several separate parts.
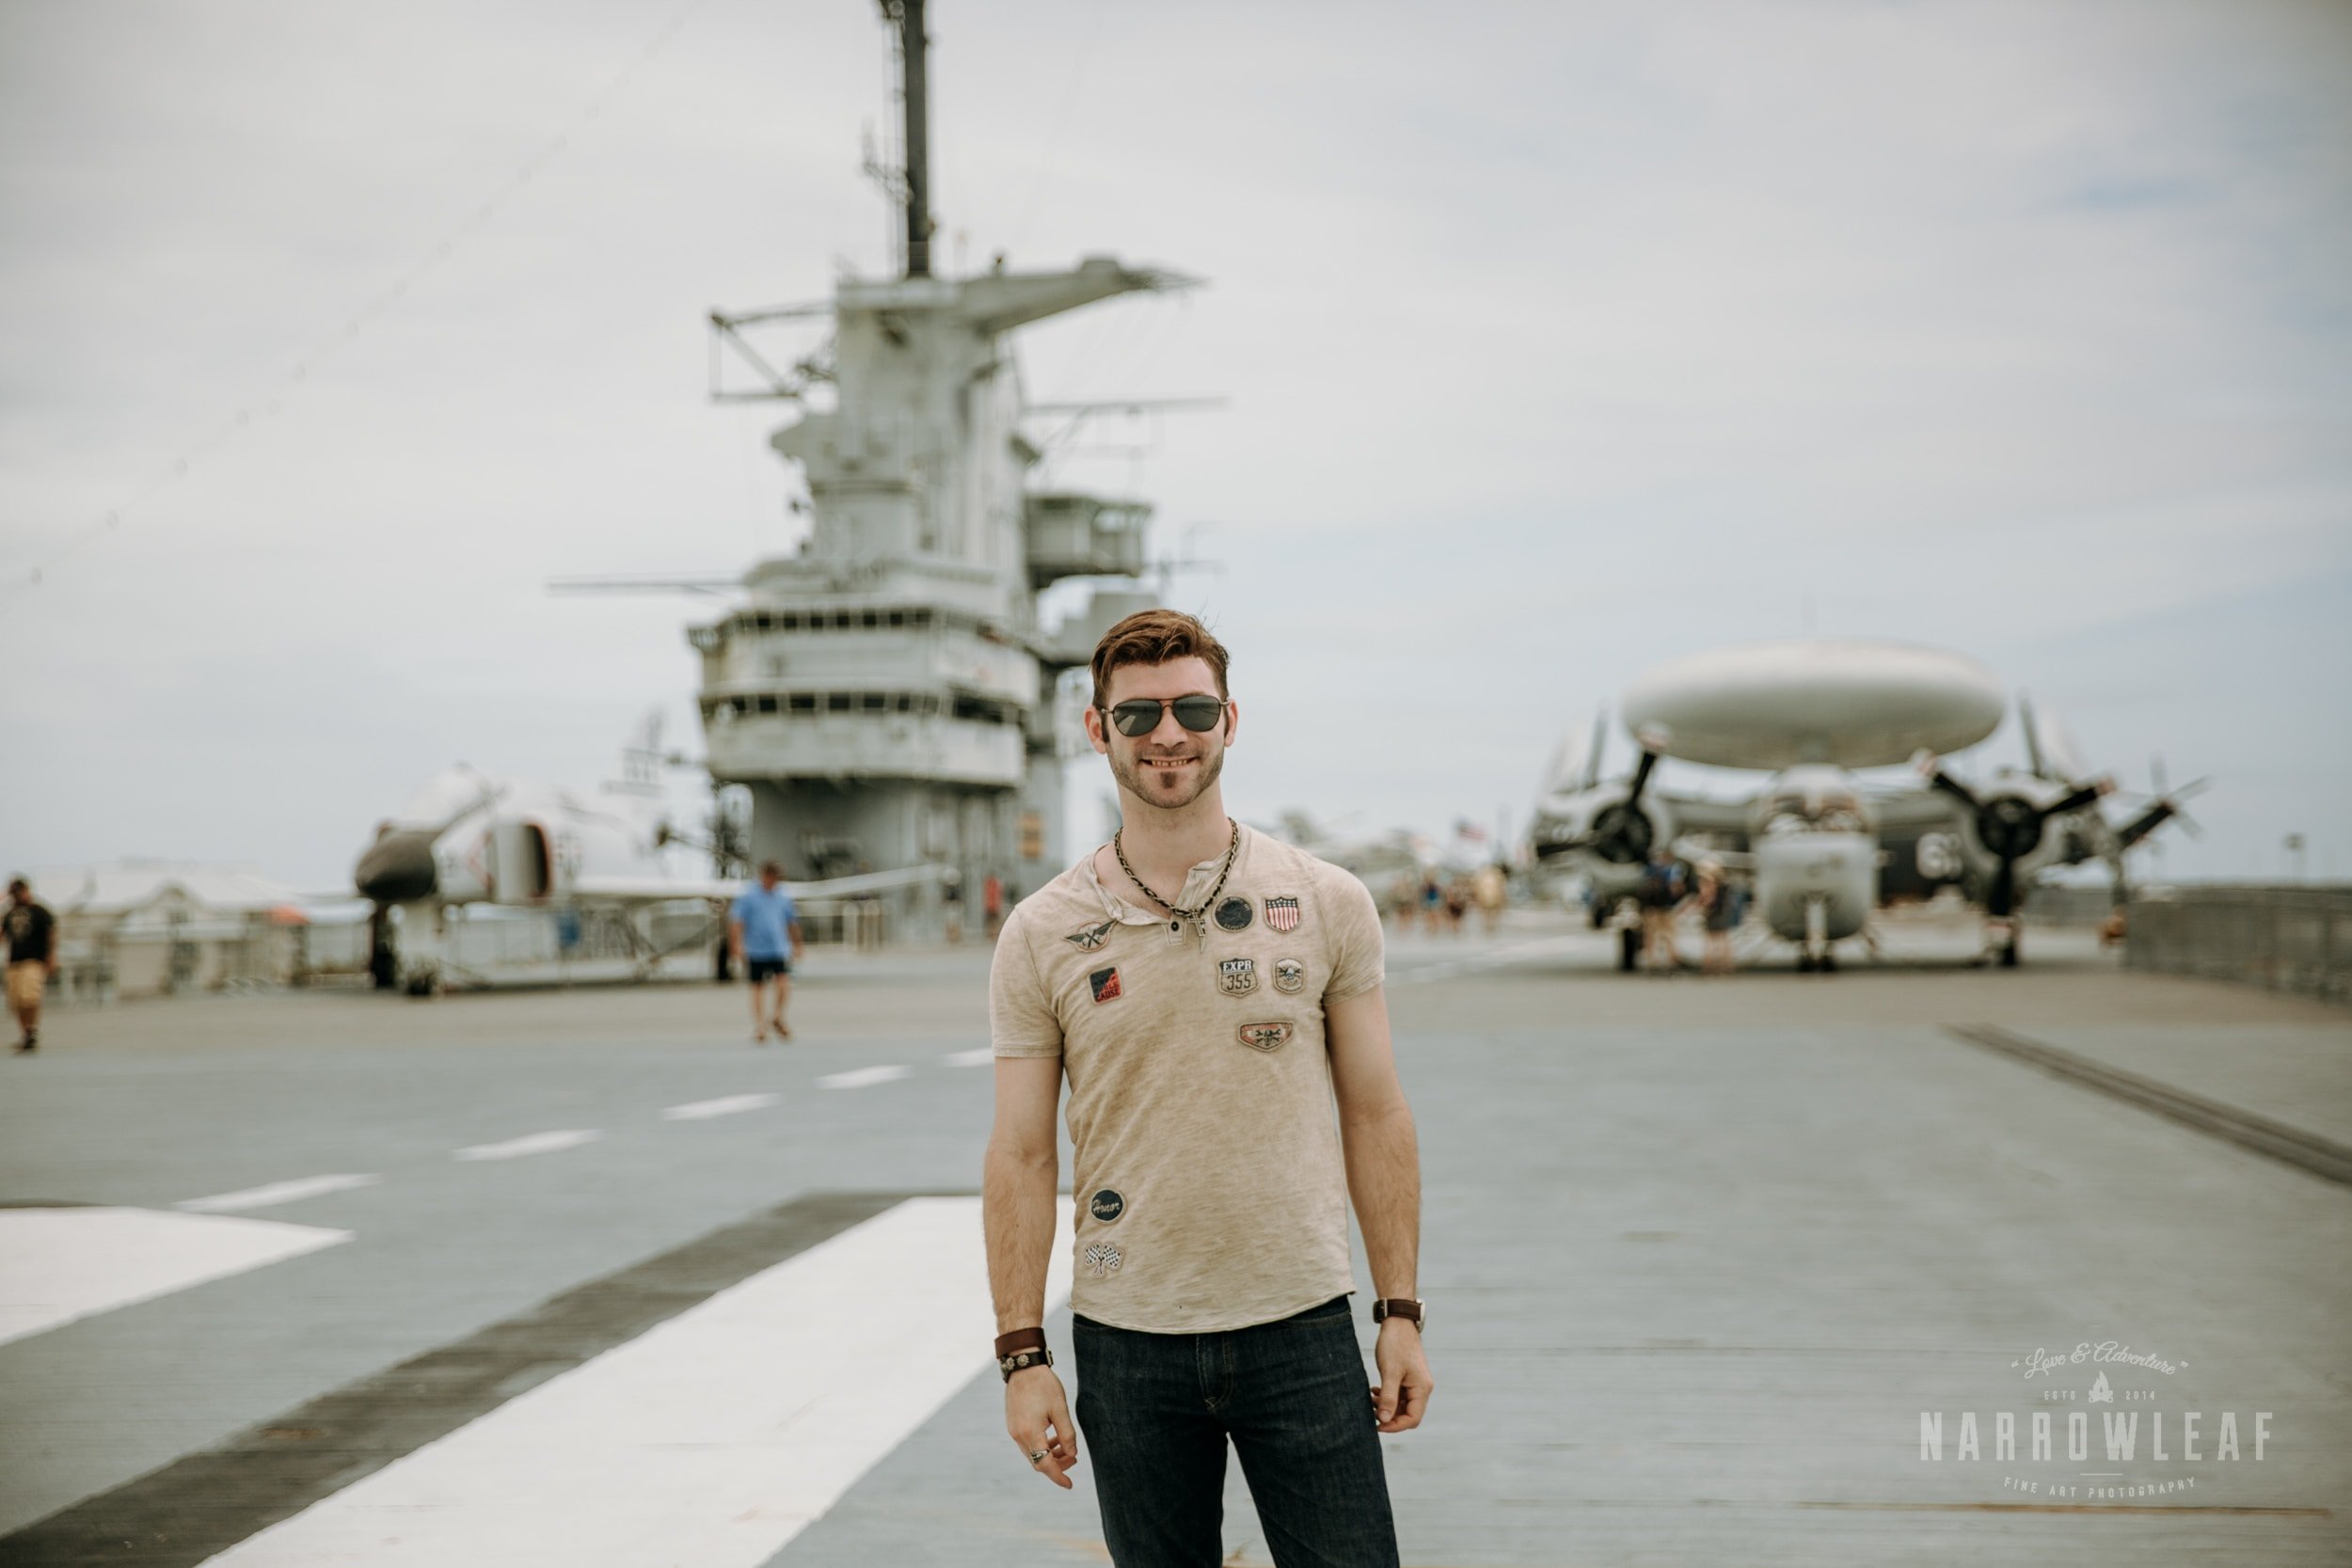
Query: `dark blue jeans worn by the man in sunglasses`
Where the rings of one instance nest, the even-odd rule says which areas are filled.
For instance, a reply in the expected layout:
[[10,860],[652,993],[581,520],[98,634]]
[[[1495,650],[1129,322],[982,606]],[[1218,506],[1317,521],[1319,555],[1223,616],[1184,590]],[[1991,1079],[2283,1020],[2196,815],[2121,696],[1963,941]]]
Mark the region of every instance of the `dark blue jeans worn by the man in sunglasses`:
[[1348,1298],[1230,1333],[1077,1319],[1077,1425],[1117,1568],[1223,1561],[1225,1439],[1279,1568],[1395,1568]]

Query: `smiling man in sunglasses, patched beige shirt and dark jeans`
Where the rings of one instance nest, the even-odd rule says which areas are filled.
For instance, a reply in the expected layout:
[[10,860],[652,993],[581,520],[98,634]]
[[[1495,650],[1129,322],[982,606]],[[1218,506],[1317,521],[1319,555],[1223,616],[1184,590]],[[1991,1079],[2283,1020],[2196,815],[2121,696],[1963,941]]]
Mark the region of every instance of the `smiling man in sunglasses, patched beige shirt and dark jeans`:
[[[1087,738],[1120,783],[1122,827],[997,940],[983,1208],[1004,1427],[1070,1486],[1077,1429],[1044,1345],[1068,1079],[1077,1425],[1112,1563],[1223,1561],[1230,1441],[1275,1563],[1392,1566],[1374,1434],[1418,1427],[1432,1380],[1381,917],[1348,872],[1225,816],[1240,722],[1225,663],[1192,616],[1110,628]],[[1369,1401],[1350,1197],[1381,1295]]]

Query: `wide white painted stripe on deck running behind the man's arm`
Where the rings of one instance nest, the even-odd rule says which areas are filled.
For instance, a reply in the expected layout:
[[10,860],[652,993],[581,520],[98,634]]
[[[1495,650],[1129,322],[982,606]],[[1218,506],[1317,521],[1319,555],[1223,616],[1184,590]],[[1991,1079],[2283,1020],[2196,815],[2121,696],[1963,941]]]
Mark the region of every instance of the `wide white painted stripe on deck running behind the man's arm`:
[[[1047,1312],[1070,1293],[1056,1208]],[[978,1199],[908,1199],[207,1568],[757,1568],[993,1371],[993,1333]]]

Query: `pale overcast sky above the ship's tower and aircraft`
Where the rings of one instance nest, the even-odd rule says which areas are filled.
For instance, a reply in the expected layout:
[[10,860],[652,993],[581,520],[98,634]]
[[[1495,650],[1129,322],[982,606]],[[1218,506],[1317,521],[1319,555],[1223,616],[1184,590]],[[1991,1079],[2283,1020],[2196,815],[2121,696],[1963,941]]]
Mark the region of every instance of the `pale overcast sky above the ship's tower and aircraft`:
[[[1209,280],[1021,355],[1230,400],[1054,480],[1221,564],[1240,813],[1522,825],[1646,665],[1816,630],[2213,773],[2173,875],[2352,875],[2352,7],[931,26],[946,268]],[[454,759],[699,743],[713,602],[543,583],[797,538],[701,317],[889,268],[891,113],[866,0],[0,2],[0,858],[339,886]]]

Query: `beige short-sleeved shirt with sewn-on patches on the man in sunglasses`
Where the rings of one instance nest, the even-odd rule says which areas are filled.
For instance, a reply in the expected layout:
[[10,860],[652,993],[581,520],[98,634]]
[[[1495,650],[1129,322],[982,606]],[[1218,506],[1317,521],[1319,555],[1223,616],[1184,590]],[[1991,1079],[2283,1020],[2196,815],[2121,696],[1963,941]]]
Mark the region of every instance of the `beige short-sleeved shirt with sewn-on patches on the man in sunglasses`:
[[1376,985],[1371,891],[1249,827],[1202,926],[1127,903],[1091,853],[1014,907],[988,1018],[997,1056],[1058,1056],[1070,1084],[1073,1309],[1216,1333],[1355,1288],[1324,1001]]

